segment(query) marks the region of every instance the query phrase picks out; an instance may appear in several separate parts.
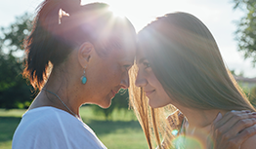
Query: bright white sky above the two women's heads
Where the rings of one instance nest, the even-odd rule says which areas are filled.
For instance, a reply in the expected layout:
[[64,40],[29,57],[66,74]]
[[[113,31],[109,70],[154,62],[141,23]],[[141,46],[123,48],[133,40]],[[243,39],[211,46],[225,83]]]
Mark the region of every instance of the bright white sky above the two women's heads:
[[[34,13],[35,8],[43,0],[1,0],[0,26],[8,26],[15,17],[24,12]],[[97,0],[82,0],[82,4]],[[126,16],[134,24],[137,31],[151,20],[172,12],[191,13],[202,20],[210,29],[218,43],[222,56],[230,69],[236,73],[243,71],[246,77],[256,77],[256,68],[249,59],[237,52],[235,41],[235,20],[243,13],[233,10],[233,0],[100,0],[109,4],[116,13]]]

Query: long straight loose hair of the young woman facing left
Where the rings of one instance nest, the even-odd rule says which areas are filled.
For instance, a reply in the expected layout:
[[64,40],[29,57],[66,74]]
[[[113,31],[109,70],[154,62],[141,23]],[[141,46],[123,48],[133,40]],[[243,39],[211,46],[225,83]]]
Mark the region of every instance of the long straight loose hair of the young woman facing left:
[[[165,92],[180,105],[201,110],[255,111],[223,62],[212,34],[199,19],[186,13],[167,14],[139,32],[138,44]],[[131,71],[134,71],[131,73],[134,83],[137,71]],[[144,111],[149,109],[148,99],[145,95],[134,95],[143,94],[141,90],[131,86],[131,106],[141,119],[149,148],[152,148],[150,137],[155,135],[159,139],[159,134],[149,130],[161,133],[166,130],[158,126],[159,122],[154,123],[164,112],[154,110],[153,116]],[[173,119],[179,123],[177,113]],[[171,140],[174,136],[170,132],[166,130]],[[160,147],[158,142],[156,144]]]

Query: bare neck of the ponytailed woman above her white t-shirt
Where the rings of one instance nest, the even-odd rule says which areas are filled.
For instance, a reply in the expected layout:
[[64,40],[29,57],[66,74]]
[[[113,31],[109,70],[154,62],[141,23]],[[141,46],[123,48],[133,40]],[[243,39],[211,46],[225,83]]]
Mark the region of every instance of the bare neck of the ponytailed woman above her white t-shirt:
[[[60,78],[60,76],[63,78]],[[51,73],[43,90],[36,96],[29,109],[41,106],[53,106],[62,109],[71,115],[80,117],[79,107],[82,103],[79,103],[73,89],[68,88],[72,87],[69,86],[70,82],[68,83],[67,86],[67,81],[64,79],[63,75],[59,75],[57,72]]]

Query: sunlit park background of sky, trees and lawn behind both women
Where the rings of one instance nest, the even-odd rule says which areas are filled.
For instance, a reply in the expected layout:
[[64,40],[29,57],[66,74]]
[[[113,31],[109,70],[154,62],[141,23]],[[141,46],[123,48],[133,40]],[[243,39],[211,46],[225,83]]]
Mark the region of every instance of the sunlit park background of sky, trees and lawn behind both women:
[[[22,39],[43,0],[0,1],[0,148],[11,148],[12,135],[25,108],[37,92],[21,77]],[[82,4],[96,2],[82,0]],[[126,16],[140,31],[151,20],[167,13],[187,12],[202,20],[212,32],[228,68],[251,101],[256,94],[256,0],[102,0],[116,15]],[[245,3],[247,2],[247,3]],[[235,4],[238,4],[235,8]],[[254,10],[253,10],[254,8]],[[244,19],[243,19],[244,18]],[[246,22],[246,23],[241,23]],[[239,25],[241,24],[241,26]],[[243,24],[243,25],[242,25]],[[245,24],[245,25],[244,25]],[[249,25],[249,28],[246,27]],[[235,33],[237,29],[241,29]],[[244,34],[246,40],[242,40]],[[252,48],[244,47],[244,42]],[[253,45],[254,44],[254,45]],[[246,44],[245,44],[246,45]],[[249,53],[252,52],[252,53]],[[247,57],[245,59],[245,57]],[[108,148],[148,148],[133,111],[128,92],[121,91],[108,109],[83,106],[83,121],[96,131]]]

